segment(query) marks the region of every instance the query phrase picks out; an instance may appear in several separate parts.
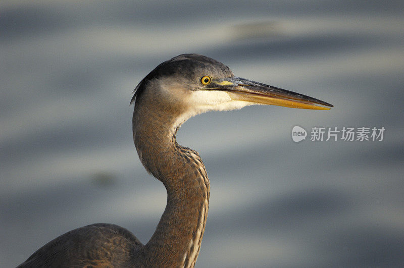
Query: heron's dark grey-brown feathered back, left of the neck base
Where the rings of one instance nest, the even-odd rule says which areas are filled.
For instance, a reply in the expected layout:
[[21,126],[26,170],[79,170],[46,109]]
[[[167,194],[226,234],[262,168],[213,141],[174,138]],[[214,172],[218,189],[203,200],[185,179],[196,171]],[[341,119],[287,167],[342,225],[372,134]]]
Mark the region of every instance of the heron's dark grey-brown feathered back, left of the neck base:
[[142,244],[114,224],[93,224],[67,232],[35,251],[18,267],[129,267]]

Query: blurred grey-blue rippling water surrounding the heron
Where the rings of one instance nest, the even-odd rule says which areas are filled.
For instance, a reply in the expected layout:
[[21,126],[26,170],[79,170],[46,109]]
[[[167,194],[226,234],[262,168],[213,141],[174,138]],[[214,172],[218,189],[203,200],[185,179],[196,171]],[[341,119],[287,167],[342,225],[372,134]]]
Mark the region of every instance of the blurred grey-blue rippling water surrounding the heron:
[[[0,266],[91,223],[143,243],[166,204],[131,92],[200,53],[331,111],[250,106],[185,123],[211,181],[198,267],[404,266],[403,1],[0,3]],[[292,127],[385,128],[295,143]],[[340,136],[339,136],[340,137]]]

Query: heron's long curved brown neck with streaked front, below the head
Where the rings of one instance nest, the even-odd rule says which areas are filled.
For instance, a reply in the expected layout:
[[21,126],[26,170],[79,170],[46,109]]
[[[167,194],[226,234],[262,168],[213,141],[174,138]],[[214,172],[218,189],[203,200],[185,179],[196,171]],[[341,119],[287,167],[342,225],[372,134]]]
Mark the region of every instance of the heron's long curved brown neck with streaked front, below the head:
[[209,179],[198,153],[177,144],[178,127],[168,111],[135,105],[133,134],[139,157],[167,189],[163,216],[138,252],[145,266],[193,267],[204,235]]

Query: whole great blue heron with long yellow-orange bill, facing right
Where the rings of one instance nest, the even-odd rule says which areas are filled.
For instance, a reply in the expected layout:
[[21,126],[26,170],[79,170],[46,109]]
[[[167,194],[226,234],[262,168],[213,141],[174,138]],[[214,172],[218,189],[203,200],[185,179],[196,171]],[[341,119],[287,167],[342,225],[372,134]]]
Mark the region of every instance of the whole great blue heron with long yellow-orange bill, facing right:
[[196,54],[179,55],[157,66],[136,86],[132,102],[139,158],[167,189],[167,206],[153,236],[143,245],[125,228],[92,224],[52,240],[19,267],[193,267],[204,235],[210,185],[199,154],[176,142],[181,124],[200,113],[251,104],[332,107],[235,77],[224,64]]

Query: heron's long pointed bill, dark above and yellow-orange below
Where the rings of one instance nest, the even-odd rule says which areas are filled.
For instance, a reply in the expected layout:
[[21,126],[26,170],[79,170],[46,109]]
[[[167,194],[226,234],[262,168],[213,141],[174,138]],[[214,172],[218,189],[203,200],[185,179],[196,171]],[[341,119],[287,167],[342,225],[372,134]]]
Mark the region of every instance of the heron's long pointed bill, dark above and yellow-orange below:
[[234,76],[213,80],[205,89],[227,91],[233,100],[313,110],[330,110],[333,107],[316,98]]

